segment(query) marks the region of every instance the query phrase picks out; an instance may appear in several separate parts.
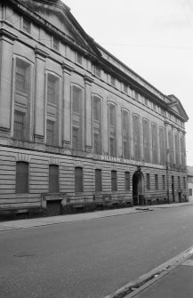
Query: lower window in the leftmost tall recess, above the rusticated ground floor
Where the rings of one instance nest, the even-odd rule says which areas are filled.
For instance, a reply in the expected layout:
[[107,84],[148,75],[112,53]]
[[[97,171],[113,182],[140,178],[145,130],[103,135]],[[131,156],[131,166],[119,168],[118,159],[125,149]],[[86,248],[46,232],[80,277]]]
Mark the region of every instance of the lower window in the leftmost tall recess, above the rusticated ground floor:
[[24,132],[25,132],[25,113],[20,112],[19,110],[14,110],[14,128],[13,134],[14,139],[24,141]]

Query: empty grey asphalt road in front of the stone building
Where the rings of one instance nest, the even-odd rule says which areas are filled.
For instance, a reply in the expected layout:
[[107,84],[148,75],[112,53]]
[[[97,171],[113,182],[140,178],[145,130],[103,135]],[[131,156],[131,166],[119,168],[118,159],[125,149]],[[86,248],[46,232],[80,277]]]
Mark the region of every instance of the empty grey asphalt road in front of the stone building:
[[193,246],[193,205],[0,233],[1,298],[102,298]]

